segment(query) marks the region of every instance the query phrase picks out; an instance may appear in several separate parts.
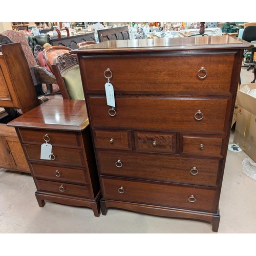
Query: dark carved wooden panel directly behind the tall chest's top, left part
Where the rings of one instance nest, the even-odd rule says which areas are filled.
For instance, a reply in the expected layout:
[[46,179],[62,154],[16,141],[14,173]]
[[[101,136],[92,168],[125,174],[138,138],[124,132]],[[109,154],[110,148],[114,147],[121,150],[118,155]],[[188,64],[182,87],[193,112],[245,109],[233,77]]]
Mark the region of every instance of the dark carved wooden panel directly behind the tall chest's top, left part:
[[97,31],[99,42],[108,40],[125,40],[130,39],[128,26],[110,28],[110,29],[100,29]]

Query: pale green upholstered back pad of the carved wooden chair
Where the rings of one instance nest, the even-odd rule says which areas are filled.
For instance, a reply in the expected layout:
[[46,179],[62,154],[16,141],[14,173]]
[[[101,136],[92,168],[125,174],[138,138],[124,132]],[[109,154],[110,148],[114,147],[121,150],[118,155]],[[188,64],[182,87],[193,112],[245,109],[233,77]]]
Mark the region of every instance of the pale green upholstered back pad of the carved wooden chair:
[[83,99],[82,80],[79,66],[75,66],[62,75],[66,89],[71,99]]

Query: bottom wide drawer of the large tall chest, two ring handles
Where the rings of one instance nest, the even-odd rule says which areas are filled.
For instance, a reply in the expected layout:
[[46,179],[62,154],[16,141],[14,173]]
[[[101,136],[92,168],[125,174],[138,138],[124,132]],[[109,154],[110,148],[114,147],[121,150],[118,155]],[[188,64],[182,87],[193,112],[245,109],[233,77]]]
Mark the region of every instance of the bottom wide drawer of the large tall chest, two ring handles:
[[101,181],[102,193],[105,199],[209,212],[215,212],[218,209],[218,205],[214,206],[215,197],[218,195],[218,188],[107,178],[101,178]]

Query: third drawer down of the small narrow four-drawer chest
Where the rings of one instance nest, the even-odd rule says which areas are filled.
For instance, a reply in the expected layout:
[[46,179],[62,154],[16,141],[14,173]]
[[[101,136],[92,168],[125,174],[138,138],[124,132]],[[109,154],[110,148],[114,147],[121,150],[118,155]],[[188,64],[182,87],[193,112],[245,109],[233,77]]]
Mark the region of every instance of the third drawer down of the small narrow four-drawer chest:
[[88,184],[86,169],[74,169],[62,166],[31,164],[36,178],[52,179],[63,182]]

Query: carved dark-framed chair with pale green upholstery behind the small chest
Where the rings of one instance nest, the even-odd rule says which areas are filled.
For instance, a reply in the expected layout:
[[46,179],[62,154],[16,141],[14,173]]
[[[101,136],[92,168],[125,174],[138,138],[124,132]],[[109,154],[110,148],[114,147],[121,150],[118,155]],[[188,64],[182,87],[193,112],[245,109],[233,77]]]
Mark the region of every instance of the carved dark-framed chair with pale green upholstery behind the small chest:
[[84,99],[76,54],[64,53],[55,56],[52,69],[63,99]]

